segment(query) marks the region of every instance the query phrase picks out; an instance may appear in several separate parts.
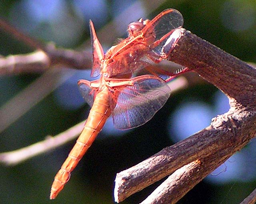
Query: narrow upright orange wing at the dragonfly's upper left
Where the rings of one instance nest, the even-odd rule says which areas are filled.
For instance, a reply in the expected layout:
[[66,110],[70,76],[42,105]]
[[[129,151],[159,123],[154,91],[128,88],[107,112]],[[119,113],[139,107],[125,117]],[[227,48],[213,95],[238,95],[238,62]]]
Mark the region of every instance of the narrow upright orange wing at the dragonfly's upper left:
[[90,33],[92,40],[92,72],[91,77],[98,77],[100,75],[100,65],[104,58],[104,52],[100,41],[96,35],[92,21],[90,20]]

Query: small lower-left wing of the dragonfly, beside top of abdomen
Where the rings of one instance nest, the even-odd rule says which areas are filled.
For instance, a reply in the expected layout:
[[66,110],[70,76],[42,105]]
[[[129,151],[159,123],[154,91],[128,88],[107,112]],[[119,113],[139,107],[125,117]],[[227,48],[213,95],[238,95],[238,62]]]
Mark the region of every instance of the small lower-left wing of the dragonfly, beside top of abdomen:
[[91,88],[90,81],[87,80],[78,80],[78,87],[84,100],[92,107],[96,89]]

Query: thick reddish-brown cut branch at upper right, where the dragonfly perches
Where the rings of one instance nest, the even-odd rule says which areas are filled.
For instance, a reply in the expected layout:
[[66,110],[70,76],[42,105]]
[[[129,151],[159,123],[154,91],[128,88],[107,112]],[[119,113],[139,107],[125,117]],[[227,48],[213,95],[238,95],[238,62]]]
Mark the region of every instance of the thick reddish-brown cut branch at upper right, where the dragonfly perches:
[[169,60],[189,67],[208,82],[220,88],[236,103],[256,108],[256,69],[220,48],[190,33],[177,29],[179,36]]

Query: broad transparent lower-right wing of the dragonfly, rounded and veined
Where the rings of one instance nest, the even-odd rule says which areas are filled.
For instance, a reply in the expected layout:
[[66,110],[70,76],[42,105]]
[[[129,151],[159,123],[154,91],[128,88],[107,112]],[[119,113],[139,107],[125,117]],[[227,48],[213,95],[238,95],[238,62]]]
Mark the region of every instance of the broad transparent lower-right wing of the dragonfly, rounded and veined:
[[169,86],[158,77],[143,75],[131,80],[132,86],[115,90],[117,100],[112,117],[118,129],[135,128],[148,122],[170,96]]

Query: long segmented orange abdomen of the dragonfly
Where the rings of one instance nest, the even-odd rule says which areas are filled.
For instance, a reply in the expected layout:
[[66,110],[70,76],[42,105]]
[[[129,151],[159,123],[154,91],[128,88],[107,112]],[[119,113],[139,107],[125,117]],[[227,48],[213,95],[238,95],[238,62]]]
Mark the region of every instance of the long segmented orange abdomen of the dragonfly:
[[106,86],[97,93],[82,133],[78,137],[73,149],[70,151],[68,158],[54,177],[50,199],[56,198],[58,193],[64,188],[64,185],[70,179],[70,173],[92,145],[110,116],[111,110],[108,94],[108,88]]

